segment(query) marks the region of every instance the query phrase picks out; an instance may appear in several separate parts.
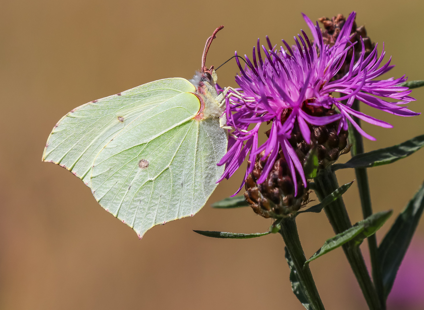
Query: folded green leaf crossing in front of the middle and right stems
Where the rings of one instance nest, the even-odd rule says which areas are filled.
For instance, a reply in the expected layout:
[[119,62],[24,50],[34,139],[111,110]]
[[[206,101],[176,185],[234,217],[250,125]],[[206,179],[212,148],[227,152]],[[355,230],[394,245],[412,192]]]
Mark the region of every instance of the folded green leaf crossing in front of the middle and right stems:
[[356,223],[351,228],[343,231],[340,234],[337,234],[335,237],[328,239],[324,245],[305,262],[304,266],[312,262],[314,259],[323,256],[329,251],[338,248],[346,242],[353,241],[355,245],[360,245],[366,237],[375,234],[375,232],[379,230],[385,221],[388,220],[392,213],[393,211],[390,210],[372,214],[365,220]]

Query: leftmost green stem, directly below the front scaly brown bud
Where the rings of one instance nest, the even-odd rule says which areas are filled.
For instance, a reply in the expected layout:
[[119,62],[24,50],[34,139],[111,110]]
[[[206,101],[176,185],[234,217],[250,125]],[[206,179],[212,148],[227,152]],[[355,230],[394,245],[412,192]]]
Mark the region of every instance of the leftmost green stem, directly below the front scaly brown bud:
[[287,250],[290,253],[296,272],[304,286],[305,293],[312,305],[312,308],[314,310],[325,310],[312,277],[311,270],[309,269],[309,265],[306,268],[303,268],[304,263],[306,262],[306,257],[299,240],[295,218],[287,217],[283,219],[279,233],[284,239]]

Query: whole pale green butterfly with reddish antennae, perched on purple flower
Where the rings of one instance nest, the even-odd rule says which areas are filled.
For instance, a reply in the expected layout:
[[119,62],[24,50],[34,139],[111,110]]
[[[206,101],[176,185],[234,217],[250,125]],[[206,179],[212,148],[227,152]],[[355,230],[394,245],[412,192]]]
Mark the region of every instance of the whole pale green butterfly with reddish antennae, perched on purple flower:
[[[228,143],[226,87],[206,67],[193,79],[160,79],[83,104],[54,126],[42,161],[84,181],[106,211],[141,239],[158,224],[193,216],[223,173]],[[237,96],[234,95],[234,96]]]

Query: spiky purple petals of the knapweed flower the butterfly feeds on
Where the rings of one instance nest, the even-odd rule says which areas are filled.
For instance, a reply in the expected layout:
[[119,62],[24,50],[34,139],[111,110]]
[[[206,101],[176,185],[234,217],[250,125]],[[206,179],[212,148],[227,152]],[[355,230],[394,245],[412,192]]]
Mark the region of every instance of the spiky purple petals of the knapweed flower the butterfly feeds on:
[[[310,144],[311,129],[337,124],[335,128],[337,134],[340,134],[341,131],[348,130],[349,122],[364,137],[375,140],[361,129],[352,116],[380,127],[392,127],[385,121],[354,110],[352,105],[355,99],[394,115],[419,114],[402,105],[415,100],[408,96],[410,90],[407,87],[399,86],[406,81],[405,76],[376,79],[394,66],[390,65],[391,59],[380,66],[385,56],[384,44],[379,55],[377,44],[371,53],[365,53],[363,39],[354,39],[356,32],[352,33],[351,30],[355,15],[355,12],[349,15],[341,30],[339,29],[335,42],[327,38],[324,43],[318,23],[314,25],[303,14],[312,31],[312,42],[301,30],[302,35],[294,37],[296,45],[290,46],[282,40],[283,46],[279,49],[277,45],[271,44],[268,37],[268,47],[260,45],[258,39],[253,48],[252,59],[245,55],[245,68],[242,68],[236,57],[240,68],[236,82],[243,100],[233,99],[234,97],[230,99],[229,95],[226,98],[228,126],[235,129],[230,134],[232,138],[229,139],[228,152],[218,163],[226,164],[220,180],[233,175],[248,157],[241,189],[244,180],[253,172],[255,160],[257,161],[260,154],[260,160],[264,163],[262,173],[256,180],[260,184],[268,178],[276,159],[283,157],[293,179],[296,196],[300,181],[298,178],[300,177],[305,188],[307,181],[302,163],[290,144],[293,130],[300,132],[301,138]],[[351,56],[347,64],[349,70],[346,70],[346,59],[349,59],[349,54],[352,55],[357,44],[361,45],[359,59]],[[342,67],[347,72],[340,76]],[[335,93],[340,93],[340,96],[335,96]],[[335,113],[335,108],[338,113]],[[259,126],[263,122],[272,122],[271,130],[267,132],[268,140],[258,145]]]

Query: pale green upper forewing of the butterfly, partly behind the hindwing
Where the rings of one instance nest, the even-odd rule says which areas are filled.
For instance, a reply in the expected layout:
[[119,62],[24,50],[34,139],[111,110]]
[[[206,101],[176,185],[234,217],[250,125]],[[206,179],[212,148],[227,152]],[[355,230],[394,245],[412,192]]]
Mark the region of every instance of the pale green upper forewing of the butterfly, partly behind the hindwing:
[[117,132],[168,99],[194,91],[186,79],[162,79],[83,104],[55,125],[42,160],[70,170],[89,186],[94,158]]

